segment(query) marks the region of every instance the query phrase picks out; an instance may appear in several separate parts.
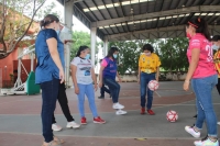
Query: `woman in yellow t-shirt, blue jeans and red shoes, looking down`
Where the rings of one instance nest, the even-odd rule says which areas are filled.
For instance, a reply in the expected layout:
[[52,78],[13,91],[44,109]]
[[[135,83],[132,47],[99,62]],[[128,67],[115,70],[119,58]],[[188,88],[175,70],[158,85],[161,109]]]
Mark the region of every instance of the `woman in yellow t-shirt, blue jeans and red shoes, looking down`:
[[[145,114],[145,106],[150,115],[155,113],[152,110],[153,91],[147,88],[151,80],[158,81],[160,57],[153,53],[154,48],[151,44],[145,44],[142,48],[143,54],[139,58],[139,83],[141,85],[141,114]],[[146,104],[146,91],[147,91],[147,104]]]

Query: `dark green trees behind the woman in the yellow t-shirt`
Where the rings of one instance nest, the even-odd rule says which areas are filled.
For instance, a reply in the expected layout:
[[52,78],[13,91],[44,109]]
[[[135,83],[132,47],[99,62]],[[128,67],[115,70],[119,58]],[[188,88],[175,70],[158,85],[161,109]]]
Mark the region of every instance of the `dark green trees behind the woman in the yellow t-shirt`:
[[111,46],[120,49],[119,66],[120,74],[136,74],[139,67],[139,57],[144,44],[151,44],[162,61],[161,69],[165,71],[186,71],[188,61],[186,57],[188,40],[180,38],[158,38],[158,40],[138,40],[125,42],[110,42]]

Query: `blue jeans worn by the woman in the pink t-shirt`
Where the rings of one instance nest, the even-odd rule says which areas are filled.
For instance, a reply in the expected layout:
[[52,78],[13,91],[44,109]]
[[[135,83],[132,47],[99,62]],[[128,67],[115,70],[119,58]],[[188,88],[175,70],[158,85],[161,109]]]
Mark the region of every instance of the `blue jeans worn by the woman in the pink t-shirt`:
[[211,90],[218,83],[218,76],[191,79],[191,86],[196,94],[197,121],[196,127],[202,128],[206,120],[208,136],[217,137],[217,116],[213,111]]

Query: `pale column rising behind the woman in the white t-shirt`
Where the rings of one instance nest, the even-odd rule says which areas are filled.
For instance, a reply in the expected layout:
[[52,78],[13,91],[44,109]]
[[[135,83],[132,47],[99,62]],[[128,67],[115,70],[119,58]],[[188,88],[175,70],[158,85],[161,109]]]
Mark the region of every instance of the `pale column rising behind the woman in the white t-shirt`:
[[91,63],[95,66],[95,54],[96,54],[96,37],[97,37],[97,27],[90,29],[91,36]]

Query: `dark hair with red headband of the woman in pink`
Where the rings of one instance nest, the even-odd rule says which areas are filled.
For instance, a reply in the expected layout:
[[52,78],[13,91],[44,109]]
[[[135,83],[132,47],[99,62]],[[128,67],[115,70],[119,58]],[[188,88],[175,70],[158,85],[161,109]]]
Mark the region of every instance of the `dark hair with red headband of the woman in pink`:
[[210,33],[208,30],[208,25],[204,19],[198,18],[198,19],[190,20],[187,23],[187,26],[189,26],[189,25],[191,25],[196,29],[196,33],[204,34],[205,37],[210,41]]

